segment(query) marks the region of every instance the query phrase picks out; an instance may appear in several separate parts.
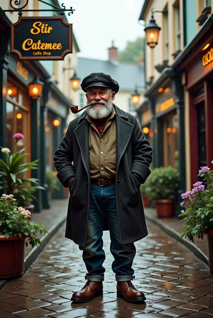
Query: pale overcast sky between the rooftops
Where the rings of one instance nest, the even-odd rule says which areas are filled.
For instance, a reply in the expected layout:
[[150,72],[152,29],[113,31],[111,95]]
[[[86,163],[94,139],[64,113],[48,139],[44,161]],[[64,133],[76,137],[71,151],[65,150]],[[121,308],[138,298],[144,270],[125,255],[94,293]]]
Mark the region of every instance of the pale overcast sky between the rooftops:
[[[78,56],[107,59],[114,45],[122,50],[127,41],[144,35],[144,21],[138,21],[144,0],[60,0],[66,9],[75,9],[68,17],[78,42]],[[141,25],[140,25],[141,24]]]

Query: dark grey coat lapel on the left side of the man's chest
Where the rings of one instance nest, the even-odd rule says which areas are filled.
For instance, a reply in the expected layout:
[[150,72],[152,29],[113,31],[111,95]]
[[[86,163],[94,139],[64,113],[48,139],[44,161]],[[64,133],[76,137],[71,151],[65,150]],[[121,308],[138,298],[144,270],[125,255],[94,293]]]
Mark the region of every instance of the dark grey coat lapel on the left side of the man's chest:
[[[80,121],[80,120],[79,120]],[[81,121],[80,125],[75,128],[74,134],[78,142],[81,158],[87,171],[88,179],[90,178],[90,162],[89,162],[89,125],[87,119]]]

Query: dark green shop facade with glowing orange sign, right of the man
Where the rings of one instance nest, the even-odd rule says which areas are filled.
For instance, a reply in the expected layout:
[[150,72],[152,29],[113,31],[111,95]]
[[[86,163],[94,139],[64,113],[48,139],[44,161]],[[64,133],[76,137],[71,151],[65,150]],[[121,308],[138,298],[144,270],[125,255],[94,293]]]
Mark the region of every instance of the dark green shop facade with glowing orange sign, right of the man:
[[185,191],[184,99],[179,75],[171,67],[165,68],[161,76],[149,86],[145,97],[150,103],[151,118],[147,122],[142,121],[142,131],[147,126],[149,137],[151,134],[152,167],[171,165],[180,173],[176,205],[178,215],[181,194]]

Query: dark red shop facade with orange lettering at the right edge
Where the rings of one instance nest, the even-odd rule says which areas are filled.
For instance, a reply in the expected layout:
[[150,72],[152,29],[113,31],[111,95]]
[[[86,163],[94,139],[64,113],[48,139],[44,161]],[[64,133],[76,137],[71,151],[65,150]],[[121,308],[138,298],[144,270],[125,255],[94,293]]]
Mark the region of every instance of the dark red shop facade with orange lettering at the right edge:
[[185,95],[187,190],[201,166],[213,168],[213,15],[174,63]]

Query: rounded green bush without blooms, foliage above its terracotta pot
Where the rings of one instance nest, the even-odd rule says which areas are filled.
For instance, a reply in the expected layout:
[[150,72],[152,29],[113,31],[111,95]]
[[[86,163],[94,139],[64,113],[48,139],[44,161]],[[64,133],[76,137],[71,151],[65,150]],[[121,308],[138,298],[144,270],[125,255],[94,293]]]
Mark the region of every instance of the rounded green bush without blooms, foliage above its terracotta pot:
[[179,187],[179,178],[178,170],[171,166],[152,169],[144,194],[149,200],[173,200]]

